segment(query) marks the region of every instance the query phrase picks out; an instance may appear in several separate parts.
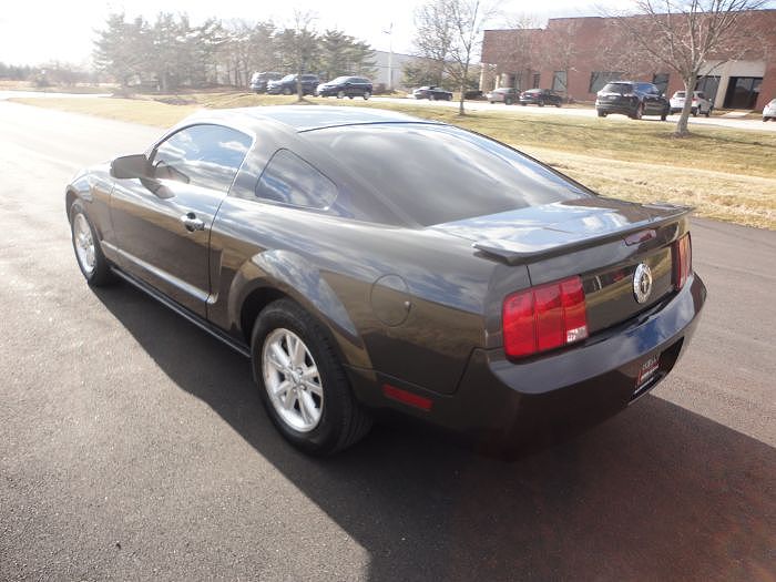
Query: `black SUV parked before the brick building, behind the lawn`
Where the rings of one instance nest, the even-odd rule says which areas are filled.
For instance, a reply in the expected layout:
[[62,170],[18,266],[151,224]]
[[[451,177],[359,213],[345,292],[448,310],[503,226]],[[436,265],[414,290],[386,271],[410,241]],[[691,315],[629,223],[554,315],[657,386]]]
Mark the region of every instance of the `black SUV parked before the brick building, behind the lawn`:
[[634,120],[640,120],[642,115],[660,115],[665,121],[670,110],[668,100],[652,83],[614,81],[606,83],[595,99],[599,118],[621,113]]

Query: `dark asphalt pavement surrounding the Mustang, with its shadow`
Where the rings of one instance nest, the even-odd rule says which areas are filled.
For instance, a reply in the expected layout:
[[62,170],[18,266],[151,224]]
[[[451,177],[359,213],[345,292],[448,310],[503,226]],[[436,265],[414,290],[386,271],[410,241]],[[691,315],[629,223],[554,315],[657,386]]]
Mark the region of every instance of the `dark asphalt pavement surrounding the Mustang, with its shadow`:
[[246,360],[92,292],[62,187],[157,130],[0,103],[0,579],[773,580],[776,233],[697,221],[709,299],[653,395],[507,463],[377,428],[289,449]]

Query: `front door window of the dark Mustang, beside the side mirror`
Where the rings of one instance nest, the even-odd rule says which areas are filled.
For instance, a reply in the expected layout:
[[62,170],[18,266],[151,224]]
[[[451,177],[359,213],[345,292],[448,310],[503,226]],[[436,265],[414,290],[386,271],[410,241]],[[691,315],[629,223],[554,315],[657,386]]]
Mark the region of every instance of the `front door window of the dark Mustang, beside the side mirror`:
[[248,135],[223,125],[192,125],[156,146],[151,162],[159,180],[227,193],[251,144]]

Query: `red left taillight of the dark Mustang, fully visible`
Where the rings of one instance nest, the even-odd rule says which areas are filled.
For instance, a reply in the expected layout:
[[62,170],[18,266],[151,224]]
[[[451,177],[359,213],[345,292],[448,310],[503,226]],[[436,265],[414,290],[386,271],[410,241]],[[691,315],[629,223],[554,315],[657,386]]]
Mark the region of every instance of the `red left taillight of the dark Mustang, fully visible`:
[[504,351],[519,358],[588,337],[588,309],[578,276],[507,296]]

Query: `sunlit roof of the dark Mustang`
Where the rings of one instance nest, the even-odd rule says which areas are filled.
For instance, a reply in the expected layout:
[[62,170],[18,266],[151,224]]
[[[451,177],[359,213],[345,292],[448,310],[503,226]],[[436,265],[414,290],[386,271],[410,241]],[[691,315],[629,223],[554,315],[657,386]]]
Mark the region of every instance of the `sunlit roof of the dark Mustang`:
[[337,108],[326,105],[269,105],[256,108],[207,110],[187,118],[186,122],[204,116],[212,121],[224,121],[239,125],[241,121],[253,125],[257,121],[269,120],[280,123],[296,132],[337,127],[343,125],[364,125],[370,123],[431,123],[381,109]]

